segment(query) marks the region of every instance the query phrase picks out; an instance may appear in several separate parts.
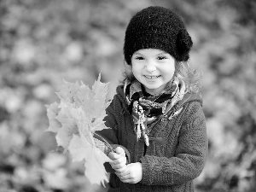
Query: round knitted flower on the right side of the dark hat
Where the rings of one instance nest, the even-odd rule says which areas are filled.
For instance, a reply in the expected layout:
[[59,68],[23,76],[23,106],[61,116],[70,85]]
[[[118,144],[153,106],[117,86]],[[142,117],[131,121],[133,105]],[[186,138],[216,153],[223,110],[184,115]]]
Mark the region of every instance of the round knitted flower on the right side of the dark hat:
[[189,59],[189,50],[191,49],[193,42],[185,29],[182,29],[177,33],[176,45],[180,60],[187,61]]

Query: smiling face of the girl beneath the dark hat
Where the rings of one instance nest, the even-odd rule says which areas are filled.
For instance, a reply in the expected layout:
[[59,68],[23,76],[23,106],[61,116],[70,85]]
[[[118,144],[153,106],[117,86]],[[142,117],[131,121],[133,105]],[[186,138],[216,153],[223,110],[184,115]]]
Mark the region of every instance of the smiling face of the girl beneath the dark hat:
[[139,49],[131,57],[131,69],[148,93],[160,94],[172,79],[175,59],[160,49]]

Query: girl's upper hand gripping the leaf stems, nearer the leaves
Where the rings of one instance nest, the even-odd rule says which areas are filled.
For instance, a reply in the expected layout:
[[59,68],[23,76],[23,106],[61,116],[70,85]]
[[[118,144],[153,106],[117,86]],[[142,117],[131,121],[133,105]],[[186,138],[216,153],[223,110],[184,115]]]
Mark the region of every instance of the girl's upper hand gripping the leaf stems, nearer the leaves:
[[124,172],[126,168],[126,157],[125,150],[123,148],[117,147],[115,148],[115,152],[110,152],[108,157],[113,160],[110,162],[110,165],[116,172]]

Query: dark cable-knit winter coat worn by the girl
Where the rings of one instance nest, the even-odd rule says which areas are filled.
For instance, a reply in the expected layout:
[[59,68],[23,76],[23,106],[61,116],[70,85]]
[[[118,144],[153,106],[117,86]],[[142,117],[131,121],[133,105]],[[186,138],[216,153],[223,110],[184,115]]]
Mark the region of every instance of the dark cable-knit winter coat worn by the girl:
[[157,119],[151,125],[148,137],[162,137],[166,143],[157,143],[151,139],[147,147],[143,139],[137,141],[123,88],[122,85],[118,86],[117,94],[107,108],[108,116],[104,119],[112,129],[98,133],[109,143],[125,148],[128,163],[142,163],[143,179],[135,184],[122,183],[109,163],[106,163],[107,172],[111,172],[108,192],[194,191],[193,179],[201,174],[208,149],[201,96],[187,93],[179,102],[180,113],[172,119]]

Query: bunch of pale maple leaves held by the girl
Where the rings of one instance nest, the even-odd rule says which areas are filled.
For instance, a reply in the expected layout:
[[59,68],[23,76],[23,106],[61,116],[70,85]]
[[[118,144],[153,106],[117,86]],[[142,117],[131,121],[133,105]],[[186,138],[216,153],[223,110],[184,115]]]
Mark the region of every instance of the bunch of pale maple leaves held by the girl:
[[110,103],[106,102],[108,83],[100,79],[101,74],[92,89],[83,82],[64,81],[61,91],[56,93],[60,102],[46,106],[49,119],[46,131],[56,133],[57,145],[64,153],[69,152],[73,161],[84,161],[84,175],[90,183],[105,186],[108,174],[103,164],[111,160],[103,153],[104,143],[93,137],[95,131],[108,129],[103,121]]

